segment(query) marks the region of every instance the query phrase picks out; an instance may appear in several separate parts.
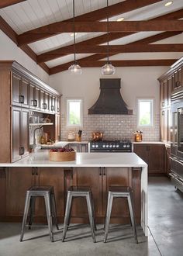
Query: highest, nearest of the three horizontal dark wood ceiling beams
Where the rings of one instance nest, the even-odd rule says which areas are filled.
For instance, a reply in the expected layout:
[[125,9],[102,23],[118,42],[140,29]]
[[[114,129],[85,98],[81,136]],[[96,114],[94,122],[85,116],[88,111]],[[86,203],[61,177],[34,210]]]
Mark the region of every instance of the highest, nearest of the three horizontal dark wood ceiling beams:
[[[75,32],[77,33],[99,33],[107,31],[107,22],[75,22]],[[143,31],[182,31],[183,20],[147,20],[147,21],[123,21],[109,22],[109,32],[143,32]],[[50,25],[49,29],[34,29],[31,33],[19,35],[21,42],[27,36],[39,36],[45,33],[71,33],[73,22],[62,22],[60,26]]]

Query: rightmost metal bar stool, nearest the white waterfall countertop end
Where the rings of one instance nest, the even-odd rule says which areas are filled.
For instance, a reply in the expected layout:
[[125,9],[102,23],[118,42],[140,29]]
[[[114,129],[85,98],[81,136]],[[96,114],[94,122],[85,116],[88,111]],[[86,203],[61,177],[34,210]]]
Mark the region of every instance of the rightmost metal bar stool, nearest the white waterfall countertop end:
[[105,216],[104,243],[107,240],[108,232],[109,232],[109,222],[110,222],[110,216],[112,211],[112,202],[113,202],[113,199],[116,197],[125,197],[128,200],[129,216],[131,220],[131,225],[133,227],[133,234],[136,240],[136,244],[138,244],[138,240],[136,236],[136,222],[135,222],[134,211],[133,211],[133,190],[130,187],[125,187],[125,186],[109,187],[107,212]]

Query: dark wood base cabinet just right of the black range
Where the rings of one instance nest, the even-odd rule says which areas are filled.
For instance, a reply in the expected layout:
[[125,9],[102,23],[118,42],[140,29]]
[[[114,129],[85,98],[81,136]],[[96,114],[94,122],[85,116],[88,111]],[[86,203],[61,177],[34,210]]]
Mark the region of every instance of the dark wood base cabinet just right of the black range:
[[134,153],[148,164],[148,174],[164,174],[164,144],[134,144]]

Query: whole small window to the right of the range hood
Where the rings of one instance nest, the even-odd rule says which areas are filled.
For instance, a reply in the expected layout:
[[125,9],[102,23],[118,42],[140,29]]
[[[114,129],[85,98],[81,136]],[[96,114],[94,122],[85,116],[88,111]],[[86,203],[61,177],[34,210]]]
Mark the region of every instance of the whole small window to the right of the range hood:
[[137,99],[137,126],[154,125],[154,99]]

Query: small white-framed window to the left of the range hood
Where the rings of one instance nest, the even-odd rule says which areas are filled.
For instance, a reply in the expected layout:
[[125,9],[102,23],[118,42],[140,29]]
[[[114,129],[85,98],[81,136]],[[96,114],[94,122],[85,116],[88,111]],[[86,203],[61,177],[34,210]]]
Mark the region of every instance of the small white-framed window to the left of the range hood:
[[67,99],[67,126],[82,126],[82,99]]

